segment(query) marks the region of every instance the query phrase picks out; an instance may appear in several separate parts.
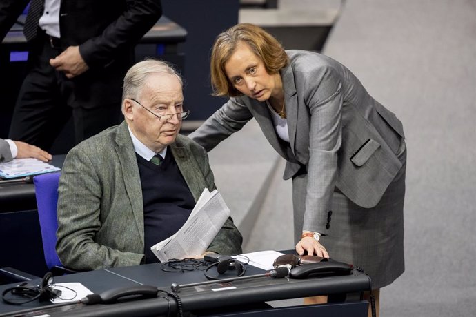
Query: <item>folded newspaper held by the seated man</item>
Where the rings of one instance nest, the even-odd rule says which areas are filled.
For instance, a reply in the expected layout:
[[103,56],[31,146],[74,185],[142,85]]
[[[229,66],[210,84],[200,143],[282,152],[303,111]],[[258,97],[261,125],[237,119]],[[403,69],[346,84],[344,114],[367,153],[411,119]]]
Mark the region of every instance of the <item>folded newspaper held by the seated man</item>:
[[150,249],[161,262],[201,256],[230,216],[221,194],[204,189],[184,225],[173,236]]

